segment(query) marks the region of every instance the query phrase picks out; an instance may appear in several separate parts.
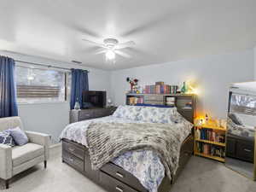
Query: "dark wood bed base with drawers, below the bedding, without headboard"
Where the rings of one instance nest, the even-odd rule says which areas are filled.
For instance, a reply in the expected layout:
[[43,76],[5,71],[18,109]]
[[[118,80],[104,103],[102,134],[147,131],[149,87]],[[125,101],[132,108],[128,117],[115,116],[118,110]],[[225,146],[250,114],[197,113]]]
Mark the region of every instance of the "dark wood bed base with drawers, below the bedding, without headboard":
[[[160,184],[159,192],[166,192],[167,189],[171,189],[171,183],[176,181],[179,173],[193,154],[193,141],[194,139],[190,135],[183,142],[176,175],[172,176],[172,181],[165,177]],[[67,139],[62,140],[62,162],[72,166],[109,192],[148,192],[138,181],[137,177],[134,177],[130,172],[126,172],[120,166],[114,165],[112,162],[102,166],[98,171],[92,170],[89,150],[79,143]]]

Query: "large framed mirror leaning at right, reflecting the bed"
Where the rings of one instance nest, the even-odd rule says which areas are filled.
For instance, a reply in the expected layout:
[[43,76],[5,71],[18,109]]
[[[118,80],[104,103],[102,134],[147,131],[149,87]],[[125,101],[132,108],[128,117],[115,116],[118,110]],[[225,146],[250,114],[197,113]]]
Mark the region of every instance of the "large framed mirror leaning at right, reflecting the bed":
[[229,91],[225,166],[256,179],[256,82],[232,84]]

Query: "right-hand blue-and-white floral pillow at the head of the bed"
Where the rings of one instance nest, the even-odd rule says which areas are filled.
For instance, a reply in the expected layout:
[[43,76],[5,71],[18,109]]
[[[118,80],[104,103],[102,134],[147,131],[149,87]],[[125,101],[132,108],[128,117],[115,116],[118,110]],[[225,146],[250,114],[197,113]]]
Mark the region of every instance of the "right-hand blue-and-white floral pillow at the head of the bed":
[[177,108],[142,108],[138,115],[139,120],[148,123],[177,123]]

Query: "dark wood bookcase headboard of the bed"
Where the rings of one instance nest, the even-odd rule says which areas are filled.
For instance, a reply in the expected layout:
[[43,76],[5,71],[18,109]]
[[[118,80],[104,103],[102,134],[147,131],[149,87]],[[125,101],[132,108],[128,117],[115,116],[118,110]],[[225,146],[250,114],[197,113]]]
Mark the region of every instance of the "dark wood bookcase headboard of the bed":
[[[175,98],[175,107],[178,113],[189,122],[194,123],[195,119],[195,104],[196,96],[194,94],[126,94],[126,105],[134,105],[135,102],[131,102],[134,99],[137,102],[152,105],[166,105],[167,97]],[[190,108],[187,104],[190,103]]]

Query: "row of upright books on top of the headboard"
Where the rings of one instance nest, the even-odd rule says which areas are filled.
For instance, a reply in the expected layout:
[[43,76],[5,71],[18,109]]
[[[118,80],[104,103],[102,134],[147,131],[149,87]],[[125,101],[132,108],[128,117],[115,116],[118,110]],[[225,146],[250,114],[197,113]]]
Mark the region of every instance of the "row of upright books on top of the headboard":
[[156,82],[155,84],[146,85],[144,92],[146,94],[176,94],[177,85],[168,85],[164,82]]

